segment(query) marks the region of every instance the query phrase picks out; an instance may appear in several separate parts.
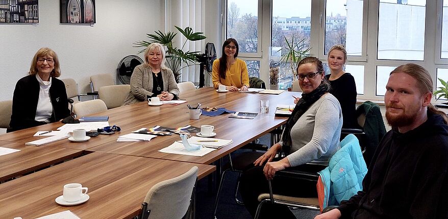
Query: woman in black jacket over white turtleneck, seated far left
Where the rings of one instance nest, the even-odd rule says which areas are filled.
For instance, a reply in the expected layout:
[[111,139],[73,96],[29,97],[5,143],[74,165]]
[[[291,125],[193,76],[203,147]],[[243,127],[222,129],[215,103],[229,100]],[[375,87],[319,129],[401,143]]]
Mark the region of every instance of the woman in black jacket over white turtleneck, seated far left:
[[8,131],[59,121],[70,115],[59,60],[50,48],[39,49],[28,76],[17,81]]

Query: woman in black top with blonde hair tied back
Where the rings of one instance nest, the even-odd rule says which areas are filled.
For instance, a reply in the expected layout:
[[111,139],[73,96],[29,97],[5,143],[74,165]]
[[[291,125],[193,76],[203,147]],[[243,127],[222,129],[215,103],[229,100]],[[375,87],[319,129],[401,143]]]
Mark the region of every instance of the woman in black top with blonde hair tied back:
[[330,82],[331,90],[336,99],[341,104],[343,128],[359,127],[356,119],[356,84],[355,78],[343,70],[343,66],[347,61],[347,51],[341,44],[331,47],[328,53],[328,66],[331,74],[326,75]]

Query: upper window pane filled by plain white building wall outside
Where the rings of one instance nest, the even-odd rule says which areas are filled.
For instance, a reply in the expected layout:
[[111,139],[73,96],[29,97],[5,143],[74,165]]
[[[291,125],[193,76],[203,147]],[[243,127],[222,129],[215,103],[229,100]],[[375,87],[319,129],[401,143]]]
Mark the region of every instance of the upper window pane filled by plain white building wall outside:
[[423,61],[426,0],[402,2],[380,0],[377,57]]

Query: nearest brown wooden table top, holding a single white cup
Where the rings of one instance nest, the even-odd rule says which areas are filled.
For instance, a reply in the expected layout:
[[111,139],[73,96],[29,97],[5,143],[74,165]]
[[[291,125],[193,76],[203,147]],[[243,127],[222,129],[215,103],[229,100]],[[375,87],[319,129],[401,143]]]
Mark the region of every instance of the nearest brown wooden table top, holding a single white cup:
[[[36,218],[70,210],[81,218],[132,218],[147,191],[156,183],[199,168],[202,178],[214,166],[146,157],[91,153],[31,175],[0,184],[0,218]],[[55,202],[67,183],[88,187],[90,199],[81,205]]]

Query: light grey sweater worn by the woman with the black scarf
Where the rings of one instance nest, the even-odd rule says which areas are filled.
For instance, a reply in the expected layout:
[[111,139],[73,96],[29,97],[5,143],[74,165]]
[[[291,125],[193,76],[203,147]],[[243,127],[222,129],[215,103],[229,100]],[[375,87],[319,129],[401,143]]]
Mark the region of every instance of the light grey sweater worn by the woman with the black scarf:
[[[291,167],[310,161],[328,161],[339,150],[341,106],[332,94],[322,95],[291,128]],[[282,142],[280,142],[282,145]]]

